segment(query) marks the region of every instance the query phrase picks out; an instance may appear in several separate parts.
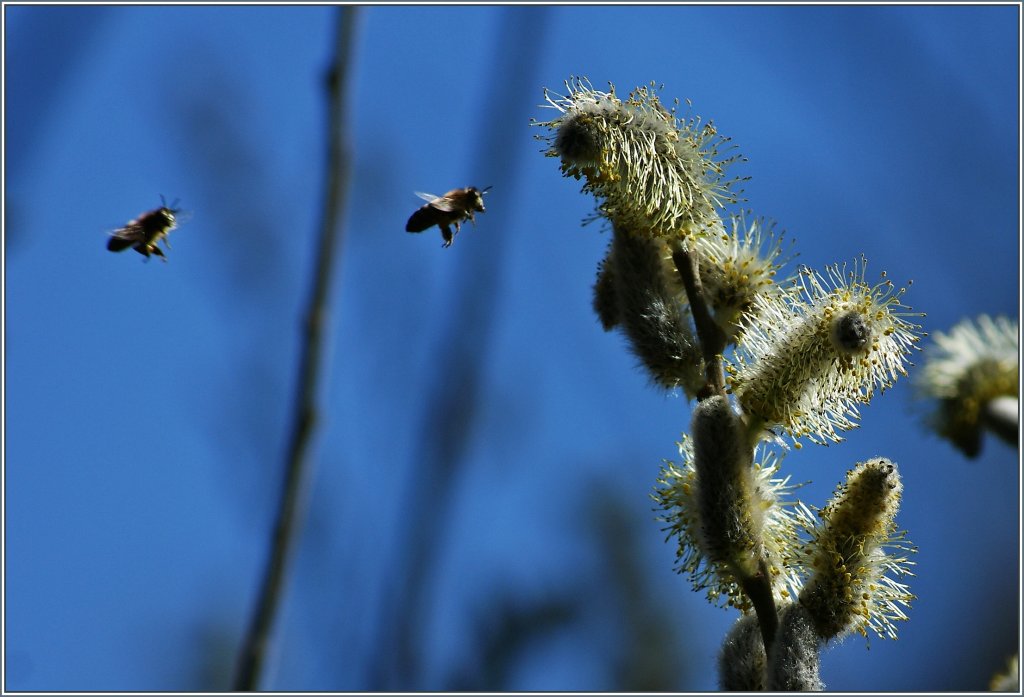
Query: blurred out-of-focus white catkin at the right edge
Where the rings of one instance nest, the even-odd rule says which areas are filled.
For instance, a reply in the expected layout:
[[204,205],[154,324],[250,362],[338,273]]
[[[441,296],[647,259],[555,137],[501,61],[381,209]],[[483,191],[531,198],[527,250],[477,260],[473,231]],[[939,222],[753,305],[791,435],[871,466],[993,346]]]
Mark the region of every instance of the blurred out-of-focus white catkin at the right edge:
[[[935,400],[930,426],[964,454],[981,451],[986,428],[1017,443],[1020,363],[1017,322],[981,315],[935,334],[915,376],[918,396]],[[1007,408],[1011,407],[1011,408]]]

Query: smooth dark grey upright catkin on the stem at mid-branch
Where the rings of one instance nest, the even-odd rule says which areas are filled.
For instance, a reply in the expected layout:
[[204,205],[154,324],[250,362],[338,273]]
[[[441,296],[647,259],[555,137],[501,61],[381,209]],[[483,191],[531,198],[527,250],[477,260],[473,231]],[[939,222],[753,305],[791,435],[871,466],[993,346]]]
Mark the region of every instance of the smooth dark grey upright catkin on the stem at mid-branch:
[[754,451],[742,420],[728,399],[717,395],[693,410],[692,434],[700,547],[709,560],[738,578],[753,575],[762,544],[751,511]]

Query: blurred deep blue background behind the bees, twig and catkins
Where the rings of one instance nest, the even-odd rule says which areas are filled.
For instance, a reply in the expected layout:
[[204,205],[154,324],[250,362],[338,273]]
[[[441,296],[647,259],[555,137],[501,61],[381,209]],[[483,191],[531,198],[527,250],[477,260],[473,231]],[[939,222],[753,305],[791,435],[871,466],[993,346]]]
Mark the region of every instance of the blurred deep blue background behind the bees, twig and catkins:
[[[228,685],[284,462],[336,12],[4,7],[6,690]],[[322,422],[264,687],[715,689],[734,613],[673,573],[649,498],[689,405],[591,310],[608,234],[534,139],[542,88],[691,99],[800,263],[863,253],[913,279],[934,332],[1019,314],[1019,31],[1016,5],[361,10]],[[415,190],[471,183],[487,212],[452,249],[402,231]],[[109,253],[161,194],[190,215],[169,262]],[[820,506],[891,458],[921,550],[899,641],[828,649],[831,690],[982,690],[1016,651],[1017,453],[967,462],[921,411],[901,381],[783,463]]]

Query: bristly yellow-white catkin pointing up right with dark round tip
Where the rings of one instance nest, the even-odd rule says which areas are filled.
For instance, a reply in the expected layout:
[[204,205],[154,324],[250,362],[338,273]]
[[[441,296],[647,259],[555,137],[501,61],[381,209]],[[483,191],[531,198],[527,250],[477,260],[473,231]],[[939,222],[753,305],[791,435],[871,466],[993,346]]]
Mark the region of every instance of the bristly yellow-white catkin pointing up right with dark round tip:
[[783,293],[755,298],[737,364],[726,368],[745,413],[795,438],[839,441],[857,426],[858,405],[906,375],[922,336],[908,317],[920,313],[884,275],[868,286],[865,266],[802,268]]

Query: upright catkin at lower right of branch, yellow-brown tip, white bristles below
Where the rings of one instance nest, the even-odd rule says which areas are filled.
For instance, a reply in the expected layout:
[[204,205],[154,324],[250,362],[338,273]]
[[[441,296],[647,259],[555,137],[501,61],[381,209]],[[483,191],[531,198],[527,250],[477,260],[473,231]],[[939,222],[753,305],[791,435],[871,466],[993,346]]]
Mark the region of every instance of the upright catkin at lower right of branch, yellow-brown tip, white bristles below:
[[822,640],[868,628],[895,639],[894,622],[906,620],[913,596],[896,577],[912,575],[905,555],[915,550],[896,531],[902,491],[895,464],[876,458],[847,473],[820,522],[800,507],[810,537],[795,559],[810,575],[800,603]]

